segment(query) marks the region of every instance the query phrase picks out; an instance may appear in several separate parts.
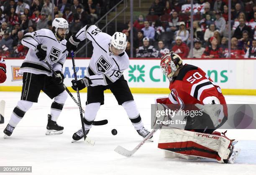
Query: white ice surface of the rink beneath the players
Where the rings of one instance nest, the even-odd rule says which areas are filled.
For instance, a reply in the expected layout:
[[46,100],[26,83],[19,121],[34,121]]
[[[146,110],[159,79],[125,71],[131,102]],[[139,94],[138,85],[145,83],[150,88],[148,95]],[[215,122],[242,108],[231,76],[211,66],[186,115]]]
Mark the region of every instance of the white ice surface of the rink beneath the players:
[[[143,123],[150,129],[150,104],[164,95],[133,95]],[[132,150],[142,138],[112,94],[105,94],[105,105],[96,117],[96,120],[108,119],[108,124],[94,126],[88,134],[95,140],[93,147],[82,140],[71,143],[73,133],[81,127],[79,109],[71,98],[67,99],[57,121],[64,126],[64,133],[45,135],[52,100],[44,93],[25,114],[12,136],[3,139],[3,129],[19,99],[20,92],[0,92],[0,100],[6,101],[5,124],[0,124],[0,166],[32,166],[32,173],[28,174],[36,175],[256,175],[256,129],[228,130],[226,135],[237,139],[235,147],[241,148],[233,165],[206,159],[166,159],[163,151],[157,148],[159,131],[154,134],[154,142],[144,144],[133,157],[123,157],[114,152],[115,147],[120,145]],[[84,107],[86,93],[81,94],[81,99]],[[256,96],[225,96],[225,99],[228,104],[256,104]],[[117,129],[118,134],[113,136],[112,129]]]

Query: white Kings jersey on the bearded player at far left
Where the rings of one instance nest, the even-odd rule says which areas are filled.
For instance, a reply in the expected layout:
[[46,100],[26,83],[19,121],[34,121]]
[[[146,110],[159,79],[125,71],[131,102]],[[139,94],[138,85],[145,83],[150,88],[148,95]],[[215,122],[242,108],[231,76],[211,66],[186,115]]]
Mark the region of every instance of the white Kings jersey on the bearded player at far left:
[[66,48],[67,40],[58,41],[54,33],[49,29],[36,30],[32,33],[26,33],[21,40],[21,43],[28,47],[28,53],[23,61],[19,74],[29,72],[33,74],[45,74],[52,76],[50,68],[39,61],[36,56],[35,48],[38,44],[47,46],[47,62],[53,67],[54,71],[62,71],[64,62],[66,61],[68,51]]

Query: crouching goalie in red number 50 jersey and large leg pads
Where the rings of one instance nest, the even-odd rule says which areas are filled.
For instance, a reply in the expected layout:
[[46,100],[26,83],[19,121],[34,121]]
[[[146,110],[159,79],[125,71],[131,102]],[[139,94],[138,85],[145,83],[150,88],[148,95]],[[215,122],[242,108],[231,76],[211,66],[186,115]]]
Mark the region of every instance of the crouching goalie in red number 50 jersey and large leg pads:
[[231,162],[234,140],[226,137],[225,132],[215,131],[228,119],[220,87],[202,69],[183,65],[182,58],[174,52],[166,53],[161,58],[161,70],[170,81],[170,94],[156,99],[157,106],[166,110],[176,105],[179,110],[186,111],[194,107],[202,115],[184,115],[186,124],[183,129],[176,129],[172,124],[161,125],[158,147],[165,151],[166,157],[190,160],[203,157],[220,163]]

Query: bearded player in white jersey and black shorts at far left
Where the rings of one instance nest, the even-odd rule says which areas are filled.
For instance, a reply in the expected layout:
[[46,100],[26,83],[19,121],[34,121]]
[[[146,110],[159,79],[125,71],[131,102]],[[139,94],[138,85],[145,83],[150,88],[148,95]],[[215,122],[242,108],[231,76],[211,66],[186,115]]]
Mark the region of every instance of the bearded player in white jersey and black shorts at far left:
[[[13,109],[10,121],[4,130],[5,137],[13,133],[13,129],[23,118],[25,113],[38,101],[40,91],[54,98],[48,114],[46,134],[61,134],[64,127],[56,123],[63,105],[67,99],[67,92],[63,86],[64,75],[62,66],[66,61],[68,51],[66,49],[65,34],[69,32],[69,24],[64,18],[55,18],[52,22],[53,29],[41,29],[32,33],[26,33],[21,43],[29,48],[23,61],[19,74],[23,75],[23,86],[20,101]],[[47,61],[56,71],[54,76]]]

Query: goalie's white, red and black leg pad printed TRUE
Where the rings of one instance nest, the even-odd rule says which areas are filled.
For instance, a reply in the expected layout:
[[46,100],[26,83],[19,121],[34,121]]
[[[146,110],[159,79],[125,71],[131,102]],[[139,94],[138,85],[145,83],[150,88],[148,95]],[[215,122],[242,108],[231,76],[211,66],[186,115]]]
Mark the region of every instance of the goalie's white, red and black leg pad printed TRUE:
[[158,147],[184,155],[217,159],[228,159],[230,139],[215,134],[186,131],[182,129],[161,129]]

